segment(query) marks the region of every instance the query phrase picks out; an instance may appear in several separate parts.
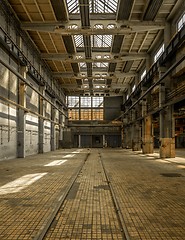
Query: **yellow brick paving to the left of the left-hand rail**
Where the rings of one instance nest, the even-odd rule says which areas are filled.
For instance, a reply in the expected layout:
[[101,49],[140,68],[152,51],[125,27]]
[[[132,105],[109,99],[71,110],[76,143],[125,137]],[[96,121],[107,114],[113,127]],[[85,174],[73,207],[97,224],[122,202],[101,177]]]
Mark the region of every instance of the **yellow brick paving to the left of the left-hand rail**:
[[68,159],[61,166],[44,167],[45,164],[61,159],[67,153],[61,150],[26,159],[0,162],[0,186],[26,174],[48,173],[21,192],[0,194],[1,240],[33,239],[39,229],[46,224],[60,195],[65,192],[86,155],[77,154],[78,157]]

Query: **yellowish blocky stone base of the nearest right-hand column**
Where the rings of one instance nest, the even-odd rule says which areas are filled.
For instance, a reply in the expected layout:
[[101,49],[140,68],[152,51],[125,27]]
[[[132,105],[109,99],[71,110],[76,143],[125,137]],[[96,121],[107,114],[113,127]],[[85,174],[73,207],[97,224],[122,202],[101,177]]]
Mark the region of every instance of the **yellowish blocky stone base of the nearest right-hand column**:
[[174,158],[175,157],[175,139],[161,138],[160,158]]

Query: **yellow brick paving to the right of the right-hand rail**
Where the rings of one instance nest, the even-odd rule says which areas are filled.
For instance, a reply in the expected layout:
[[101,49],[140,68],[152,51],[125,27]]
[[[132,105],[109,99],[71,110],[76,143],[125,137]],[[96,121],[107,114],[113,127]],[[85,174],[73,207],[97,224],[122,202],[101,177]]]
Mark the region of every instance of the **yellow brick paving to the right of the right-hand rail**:
[[130,239],[185,239],[185,168],[128,150],[101,155]]

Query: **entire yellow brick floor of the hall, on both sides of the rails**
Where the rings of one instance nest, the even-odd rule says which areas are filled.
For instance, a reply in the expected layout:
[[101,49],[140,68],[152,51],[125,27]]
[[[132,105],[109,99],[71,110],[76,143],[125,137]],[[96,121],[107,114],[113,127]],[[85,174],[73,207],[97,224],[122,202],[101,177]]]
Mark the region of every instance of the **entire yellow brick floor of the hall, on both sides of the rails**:
[[[99,152],[129,239],[185,239],[185,151],[174,159],[159,159],[158,154],[124,149],[90,150],[45,239],[123,239]],[[87,153],[63,149],[0,162],[0,239],[34,239]],[[46,175],[19,192],[2,194],[5,184],[37,173]]]

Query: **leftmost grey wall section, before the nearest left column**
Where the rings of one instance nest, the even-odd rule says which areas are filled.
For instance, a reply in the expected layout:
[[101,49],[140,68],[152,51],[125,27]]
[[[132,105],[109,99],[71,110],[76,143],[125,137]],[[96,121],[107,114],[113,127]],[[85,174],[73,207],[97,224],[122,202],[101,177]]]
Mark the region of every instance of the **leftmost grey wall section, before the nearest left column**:
[[[1,58],[6,61],[8,54],[0,49]],[[16,68],[11,59],[9,62]],[[17,77],[0,64],[0,96],[17,101]],[[17,155],[17,110],[14,105],[0,99],[0,160]]]

